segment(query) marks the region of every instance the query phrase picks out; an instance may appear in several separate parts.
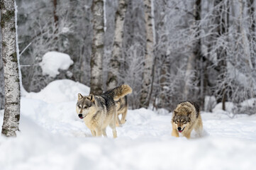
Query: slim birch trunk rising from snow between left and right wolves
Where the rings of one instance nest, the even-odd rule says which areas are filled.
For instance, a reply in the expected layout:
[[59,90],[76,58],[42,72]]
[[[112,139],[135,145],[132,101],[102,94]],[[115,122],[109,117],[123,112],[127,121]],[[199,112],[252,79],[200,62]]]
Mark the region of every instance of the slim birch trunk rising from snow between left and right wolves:
[[152,84],[153,48],[154,48],[154,22],[153,22],[153,0],[144,0],[145,27],[146,27],[146,49],[143,69],[143,84],[140,94],[140,107],[148,108],[150,104],[150,93]]

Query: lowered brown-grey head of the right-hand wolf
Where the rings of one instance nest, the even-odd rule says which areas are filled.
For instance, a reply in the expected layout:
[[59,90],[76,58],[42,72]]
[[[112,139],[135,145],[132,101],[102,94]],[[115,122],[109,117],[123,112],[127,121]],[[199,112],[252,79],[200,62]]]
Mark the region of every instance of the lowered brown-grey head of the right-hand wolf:
[[176,126],[178,132],[183,132],[186,126],[189,125],[190,115],[191,115],[191,112],[178,113],[177,111],[174,111],[174,117],[172,118],[172,122]]

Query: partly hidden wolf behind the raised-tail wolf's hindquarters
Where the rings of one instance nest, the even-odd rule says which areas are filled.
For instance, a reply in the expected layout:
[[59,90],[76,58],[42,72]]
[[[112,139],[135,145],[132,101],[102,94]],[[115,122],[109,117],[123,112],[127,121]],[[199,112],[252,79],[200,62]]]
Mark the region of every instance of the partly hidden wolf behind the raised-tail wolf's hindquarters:
[[[116,111],[117,111],[116,125],[117,126],[126,123],[127,110],[128,110],[127,96],[124,96],[123,98],[120,98],[118,101],[116,101]],[[119,119],[118,115],[122,115],[121,120]]]

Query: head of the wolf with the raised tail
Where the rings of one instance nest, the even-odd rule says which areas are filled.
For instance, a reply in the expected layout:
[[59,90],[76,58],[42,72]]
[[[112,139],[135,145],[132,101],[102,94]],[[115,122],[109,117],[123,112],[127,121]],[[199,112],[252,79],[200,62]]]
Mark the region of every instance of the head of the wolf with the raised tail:
[[82,94],[78,94],[78,101],[77,101],[77,114],[78,117],[83,119],[89,113],[95,111],[95,98],[93,94],[89,96],[82,96]]

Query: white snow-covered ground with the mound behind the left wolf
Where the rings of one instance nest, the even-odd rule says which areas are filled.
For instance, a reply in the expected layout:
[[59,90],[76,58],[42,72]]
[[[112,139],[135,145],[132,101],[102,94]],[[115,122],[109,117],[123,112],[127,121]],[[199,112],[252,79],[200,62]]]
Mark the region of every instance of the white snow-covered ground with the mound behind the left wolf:
[[[18,136],[0,137],[0,169],[255,169],[256,115],[216,108],[201,113],[204,137],[172,137],[171,113],[129,110],[115,140],[91,137],[75,113],[77,93],[89,88],[71,80],[50,83],[21,98]],[[0,113],[2,125],[4,111]]]

